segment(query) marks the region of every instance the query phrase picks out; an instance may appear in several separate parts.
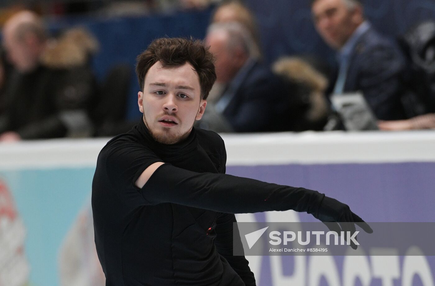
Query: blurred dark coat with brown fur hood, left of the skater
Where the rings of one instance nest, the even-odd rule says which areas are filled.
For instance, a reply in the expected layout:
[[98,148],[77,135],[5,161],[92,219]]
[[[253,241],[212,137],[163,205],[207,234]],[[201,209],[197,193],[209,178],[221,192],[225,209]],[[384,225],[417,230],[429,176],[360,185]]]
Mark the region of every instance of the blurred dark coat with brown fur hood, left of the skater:
[[98,50],[97,39],[79,27],[66,30],[41,56],[41,63],[57,72],[57,116],[67,128],[66,137],[95,132],[92,107],[98,98],[91,59]]

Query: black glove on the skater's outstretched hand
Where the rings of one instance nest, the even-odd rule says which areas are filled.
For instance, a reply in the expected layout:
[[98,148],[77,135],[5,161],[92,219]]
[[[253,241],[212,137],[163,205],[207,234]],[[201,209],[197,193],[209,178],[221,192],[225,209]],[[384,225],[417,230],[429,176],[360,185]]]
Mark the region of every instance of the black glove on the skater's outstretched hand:
[[[317,218],[331,231],[340,234],[341,231],[345,233],[350,231],[355,232],[355,224],[362,228],[367,233],[373,233],[371,227],[354,214],[347,204],[343,204],[331,197],[324,197],[318,209]],[[355,237],[355,240],[356,237]],[[351,241],[351,247],[357,249],[357,245]]]

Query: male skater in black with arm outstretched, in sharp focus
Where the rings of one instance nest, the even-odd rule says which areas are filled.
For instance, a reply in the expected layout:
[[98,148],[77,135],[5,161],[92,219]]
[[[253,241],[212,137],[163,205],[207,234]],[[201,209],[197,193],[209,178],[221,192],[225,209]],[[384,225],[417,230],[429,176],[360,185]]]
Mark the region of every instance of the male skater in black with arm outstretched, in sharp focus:
[[92,184],[107,286],[254,286],[248,261],[233,256],[234,213],[293,209],[371,231],[347,205],[317,191],[224,174],[224,141],[193,127],[216,79],[201,42],[156,39],[136,71],[144,116],[101,150]]

